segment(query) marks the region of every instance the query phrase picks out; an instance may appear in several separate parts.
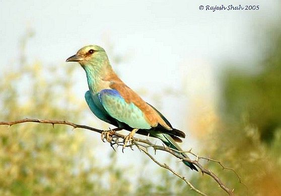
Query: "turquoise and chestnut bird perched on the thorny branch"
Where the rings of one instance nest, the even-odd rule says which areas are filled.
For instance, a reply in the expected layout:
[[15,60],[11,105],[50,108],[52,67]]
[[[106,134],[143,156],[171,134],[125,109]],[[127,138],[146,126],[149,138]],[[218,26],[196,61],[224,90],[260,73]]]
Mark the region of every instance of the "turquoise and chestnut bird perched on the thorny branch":
[[[67,58],[66,62],[78,62],[85,70],[89,86],[85,99],[94,115],[120,130],[130,131],[124,139],[123,148],[137,133],[158,138],[188,158],[176,143],[182,142],[180,138],[185,138],[185,133],[174,129],[156,108],[145,102],[117,76],[102,47],[85,46]],[[194,164],[187,161],[183,163],[191,170],[198,171]]]

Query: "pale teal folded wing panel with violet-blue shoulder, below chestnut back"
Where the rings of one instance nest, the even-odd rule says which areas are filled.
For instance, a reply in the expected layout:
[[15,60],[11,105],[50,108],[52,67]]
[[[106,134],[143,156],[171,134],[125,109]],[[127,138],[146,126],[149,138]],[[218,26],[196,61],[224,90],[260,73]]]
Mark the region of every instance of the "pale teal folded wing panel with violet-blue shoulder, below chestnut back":
[[127,124],[132,128],[151,129],[143,112],[133,103],[127,103],[118,90],[103,89],[99,99],[106,112],[114,119]]

